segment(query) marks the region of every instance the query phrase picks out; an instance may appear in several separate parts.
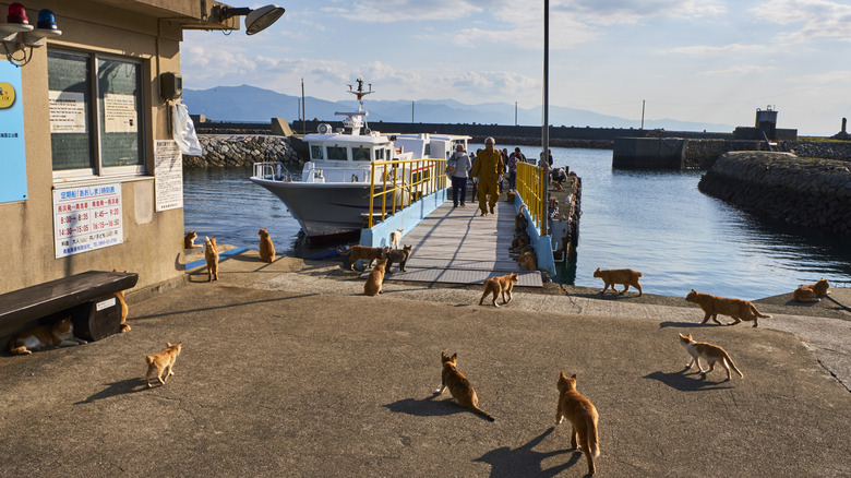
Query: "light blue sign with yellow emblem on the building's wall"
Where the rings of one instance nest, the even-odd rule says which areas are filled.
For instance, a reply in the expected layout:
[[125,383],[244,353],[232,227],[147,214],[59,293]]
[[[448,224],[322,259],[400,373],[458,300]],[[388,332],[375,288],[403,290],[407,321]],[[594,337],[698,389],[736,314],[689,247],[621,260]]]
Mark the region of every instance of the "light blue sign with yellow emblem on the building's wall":
[[0,203],[26,200],[21,69],[0,61]]

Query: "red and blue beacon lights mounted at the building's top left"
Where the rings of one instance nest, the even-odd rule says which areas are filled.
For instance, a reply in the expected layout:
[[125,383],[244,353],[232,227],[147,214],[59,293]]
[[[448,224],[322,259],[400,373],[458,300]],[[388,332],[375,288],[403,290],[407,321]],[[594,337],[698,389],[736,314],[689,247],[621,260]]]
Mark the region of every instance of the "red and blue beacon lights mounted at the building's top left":
[[[62,35],[62,31],[57,28],[53,12],[47,9],[39,11],[38,21],[33,27],[26,16],[26,9],[19,2],[9,5],[7,23],[0,23],[0,43],[5,50],[5,59],[15,67],[29,62],[33,59],[33,48],[45,46],[47,37],[59,35]],[[29,55],[26,47],[29,47]],[[22,57],[15,58],[19,51]]]

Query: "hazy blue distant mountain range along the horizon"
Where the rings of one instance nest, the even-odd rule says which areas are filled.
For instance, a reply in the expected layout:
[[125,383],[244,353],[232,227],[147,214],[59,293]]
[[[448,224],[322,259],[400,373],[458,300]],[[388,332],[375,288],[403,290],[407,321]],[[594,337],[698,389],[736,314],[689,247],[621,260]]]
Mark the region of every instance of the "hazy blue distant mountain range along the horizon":
[[[183,103],[190,115],[204,115],[212,121],[257,121],[266,122],[271,118],[284,118],[287,121],[299,119],[301,97],[263,89],[255,86],[217,86],[209,89],[183,89]],[[307,119],[338,121],[337,111],[357,110],[356,100],[327,101],[312,96],[304,98]],[[411,108],[412,107],[412,108]],[[508,103],[483,103],[466,105],[454,99],[372,100],[364,99],[364,109],[369,111],[368,121],[421,123],[480,123],[514,124],[515,107]],[[516,110],[517,123],[522,126],[541,124],[541,107]],[[591,128],[639,128],[640,119],[625,119],[600,115],[594,111],[550,106],[550,124],[555,127]],[[672,119],[645,119],[644,128],[666,129],[668,131],[709,131],[732,132],[730,124],[700,123]]]

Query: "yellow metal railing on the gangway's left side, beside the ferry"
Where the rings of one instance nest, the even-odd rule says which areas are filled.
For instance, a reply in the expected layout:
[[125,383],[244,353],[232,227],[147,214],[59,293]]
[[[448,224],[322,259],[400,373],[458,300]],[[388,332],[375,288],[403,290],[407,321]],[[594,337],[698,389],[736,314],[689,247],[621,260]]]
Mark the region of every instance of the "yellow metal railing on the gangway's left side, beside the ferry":
[[376,222],[376,208],[381,211],[381,220],[384,220],[387,215],[396,214],[396,211],[408,207],[422,196],[445,189],[445,170],[446,159],[442,158],[373,162],[368,227]]

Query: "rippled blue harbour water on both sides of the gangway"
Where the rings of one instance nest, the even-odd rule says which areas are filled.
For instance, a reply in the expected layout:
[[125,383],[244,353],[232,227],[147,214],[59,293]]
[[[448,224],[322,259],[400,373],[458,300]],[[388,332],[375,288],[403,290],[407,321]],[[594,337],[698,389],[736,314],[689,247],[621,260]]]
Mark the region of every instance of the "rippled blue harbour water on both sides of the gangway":
[[[477,147],[483,146],[470,145]],[[535,147],[520,148],[536,155]],[[628,267],[644,274],[645,292],[680,297],[695,289],[753,300],[822,277],[851,287],[850,240],[764,220],[707,196],[697,190],[700,171],[616,170],[610,150],[552,153],[554,166],[568,166],[583,180],[576,254],[559,267],[556,282],[602,289],[597,267]],[[327,249],[296,251],[298,222],[250,175],[244,168],[184,169],[184,228],[250,249],[259,248],[257,229],[267,228],[278,254]]]

